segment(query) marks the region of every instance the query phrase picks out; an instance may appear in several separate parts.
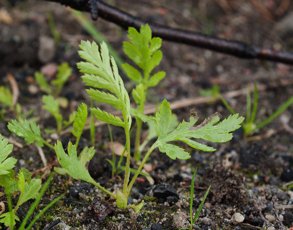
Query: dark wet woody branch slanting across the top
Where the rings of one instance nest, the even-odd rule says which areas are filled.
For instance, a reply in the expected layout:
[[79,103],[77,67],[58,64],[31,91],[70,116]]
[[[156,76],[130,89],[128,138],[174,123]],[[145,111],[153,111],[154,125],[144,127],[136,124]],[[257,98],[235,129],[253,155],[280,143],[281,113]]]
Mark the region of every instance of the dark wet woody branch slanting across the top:
[[[92,12],[92,8],[87,0],[47,0],[54,1],[70,6],[76,10]],[[96,1],[98,15],[100,18],[113,22],[125,29],[132,26],[139,29],[141,25],[146,24],[125,12],[105,3]],[[208,37],[194,32],[171,29],[149,24],[152,34],[155,37],[161,37],[167,41],[197,46],[213,51],[230,54],[239,58],[258,58],[261,60],[271,60],[287,64],[293,64],[293,53],[286,51],[276,51],[271,49],[262,49],[258,46],[244,44],[237,41],[227,41],[215,37]]]

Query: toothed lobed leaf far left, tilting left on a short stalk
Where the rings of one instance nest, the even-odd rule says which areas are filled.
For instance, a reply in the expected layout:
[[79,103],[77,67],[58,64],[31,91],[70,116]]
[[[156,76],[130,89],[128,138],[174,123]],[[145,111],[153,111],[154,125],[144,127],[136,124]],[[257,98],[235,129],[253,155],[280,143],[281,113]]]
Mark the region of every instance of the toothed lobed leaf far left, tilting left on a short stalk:
[[35,122],[29,123],[27,120],[19,118],[19,123],[16,120],[11,120],[12,123],[8,123],[8,129],[14,132],[17,136],[24,137],[27,143],[33,143],[37,141],[39,147],[44,146],[44,139],[41,137],[40,126]]

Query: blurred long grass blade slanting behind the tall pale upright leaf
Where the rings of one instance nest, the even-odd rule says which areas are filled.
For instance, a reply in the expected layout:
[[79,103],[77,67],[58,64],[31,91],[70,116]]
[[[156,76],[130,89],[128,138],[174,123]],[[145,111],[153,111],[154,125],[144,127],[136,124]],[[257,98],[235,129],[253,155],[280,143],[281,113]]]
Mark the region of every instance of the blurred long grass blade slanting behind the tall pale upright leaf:
[[[92,38],[98,42],[102,43],[103,41],[106,41],[106,39],[103,37],[103,35],[97,30],[97,28],[91,23],[90,20],[84,16],[84,14],[81,11],[72,10],[71,14],[76,18],[76,20],[79,22],[79,24],[84,27],[84,29],[92,36]],[[115,51],[113,46],[111,46],[108,42],[106,42],[110,55],[113,56],[115,59],[118,67],[120,70],[124,71],[122,68],[122,64],[124,61],[119,56],[119,54]]]

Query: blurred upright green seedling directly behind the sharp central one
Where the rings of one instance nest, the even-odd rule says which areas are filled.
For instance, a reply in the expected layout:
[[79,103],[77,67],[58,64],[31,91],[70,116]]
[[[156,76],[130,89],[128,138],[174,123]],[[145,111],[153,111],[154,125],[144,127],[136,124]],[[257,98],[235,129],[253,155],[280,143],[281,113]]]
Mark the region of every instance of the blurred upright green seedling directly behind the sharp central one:
[[[151,29],[148,24],[140,27],[140,32],[135,28],[129,27],[128,35],[130,42],[123,42],[124,53],[140,68],[133,67],[125,63],[122,65],[127,76],[137,83],[135,89],[132,90],[132,96],[137,104],[137,110],[140,113],[144,112],[147,91],[149,87],[156,86],[165,76],[166,72],[156,72],[151,76],[151,72],[159,65],[162,60],[162,52],[160,49],[162,39],[151,36]],[[134,143],[134,158],[136,161],[140,160],[141,149],[139,149],[142,120],[135,116],[137,123],[137,130]]]

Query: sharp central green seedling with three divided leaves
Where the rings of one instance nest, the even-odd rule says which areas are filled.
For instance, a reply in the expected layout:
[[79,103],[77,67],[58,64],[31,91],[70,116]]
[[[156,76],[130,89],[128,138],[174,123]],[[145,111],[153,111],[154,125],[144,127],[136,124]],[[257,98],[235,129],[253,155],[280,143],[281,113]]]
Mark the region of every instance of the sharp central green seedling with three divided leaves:
[[[115,126],[120,126],[124,129],[126,136],[126,165],[125,165],[125,177],[122,191],[117,191],[116,194],[108,191],[94,181],[88,173],[89,159],[86,154],[83,154],[80,160],[77,158],[76,146],[71,142],[68,144],[68,155],[64,152],[62,144],[57,141],[55,145],[55,152],[57,158],[66,172],[75,179],[81,179],[96,185],[99,189],[105,193],[113,196],[116,199],[116,205],[118,208],[125,210],[127,207],[132,207],[138,212],[142,205],[127,205],[127,200],[131,191],[131,188],[139,175],[144,163],[147,161],[149,155],[155,148],[163,153],[166,153],[172,159],[188,159],[190,155],[185,152],[183,148],[180,148],[171,143],[170,141],[184,141],[193,148],[198,148],[203,151],[215,151],[214,148],[200,144],[189,138],[202,138],[214,142],[226,142],[232,138],[232,134],[229,133],[240,127],[240,123],[243,121],[243,117],[239,117],[238,114],[229,116],[222,122],[219,122],[221,115],[215,113],[212,117],[207,118],[200,125],[193,127],[198,120],[197,113],[191,111],[190,122],[185,122],[178,125],[178,127],[171,133],[168,133],[171,123],[171,110],[170,104],[164,100],[160,107],[160,112],[156,113],[156,118],[149,118],[138,110],[130,107],[129,95],[124,87],[124,83],[118,73],[117,65],[113,57],[109,56],[107,45],[103,42],[100,47],[96,42],[90,43],[89,41],[81,41],[81,51],[79,55],[86,60],[86,62],[77,63],[78,68],[84,73],[82,76],[84,83],[87,86],[98,88],[87,89],[88,94],[94,100],[104,102],[112,105],[116,109],[122,112],[123,120],[119,117],[105,112],[100,108],[91,109],[93,114],[100,121],[107,122]],[[108,92],[102,90],[108,90]],[[151,146],[147,154],[145,155],[142,163],[139,165],[135,172],[134,177],[130,181],[130,126],[131,115],[139,117],[142,121],[147,122],[149,120],[155,120],[155,131],[158,135],[157,141]],[[216,122],[218,124],[214,125]],[[129,182],[130,181],[130,182]]]

